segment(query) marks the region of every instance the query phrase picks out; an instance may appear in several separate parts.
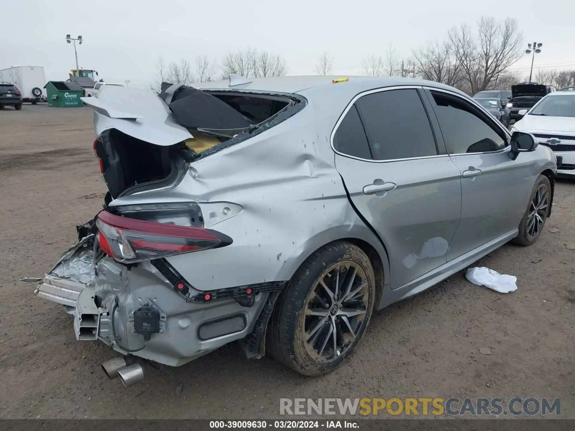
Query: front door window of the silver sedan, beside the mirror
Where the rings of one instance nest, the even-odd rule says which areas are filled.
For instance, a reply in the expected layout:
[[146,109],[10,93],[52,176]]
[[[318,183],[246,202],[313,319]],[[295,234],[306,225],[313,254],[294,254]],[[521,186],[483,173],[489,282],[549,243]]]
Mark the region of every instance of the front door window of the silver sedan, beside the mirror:
[[442,94],[432,93],[437,107],[437,119],[450,154],[497,151],[507,143],[465,103]]

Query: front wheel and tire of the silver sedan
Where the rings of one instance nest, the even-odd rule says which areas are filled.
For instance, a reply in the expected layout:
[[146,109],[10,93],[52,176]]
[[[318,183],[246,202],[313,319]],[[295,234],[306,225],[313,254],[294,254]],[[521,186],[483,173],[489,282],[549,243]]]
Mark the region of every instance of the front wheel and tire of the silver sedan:
[[519,224],[519,234],[513,240],[518,245],[531,245],[537,241],[549,214],[551,205],[551,183],[545,175],[539,175],[523,218]]

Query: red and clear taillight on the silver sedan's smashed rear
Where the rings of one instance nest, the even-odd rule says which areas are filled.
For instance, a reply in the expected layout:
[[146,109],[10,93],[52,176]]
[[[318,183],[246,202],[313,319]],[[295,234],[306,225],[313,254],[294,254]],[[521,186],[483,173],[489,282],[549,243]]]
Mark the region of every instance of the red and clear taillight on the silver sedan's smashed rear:
[[170,225],[114,216],[108,211],[98,214],[100,248],[121,263],[224,247],[232,238],[212,229]]

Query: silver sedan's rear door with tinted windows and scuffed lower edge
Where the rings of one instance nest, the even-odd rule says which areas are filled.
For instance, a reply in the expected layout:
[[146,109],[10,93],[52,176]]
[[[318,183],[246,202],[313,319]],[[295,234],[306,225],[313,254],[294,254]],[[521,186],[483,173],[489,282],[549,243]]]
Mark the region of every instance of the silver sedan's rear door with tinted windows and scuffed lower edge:
[[435,138],[430,110],[417,87],[369,91],[332,132],[351,201],[388,249],[392,288],[446,263],[461,215],[461,174]]

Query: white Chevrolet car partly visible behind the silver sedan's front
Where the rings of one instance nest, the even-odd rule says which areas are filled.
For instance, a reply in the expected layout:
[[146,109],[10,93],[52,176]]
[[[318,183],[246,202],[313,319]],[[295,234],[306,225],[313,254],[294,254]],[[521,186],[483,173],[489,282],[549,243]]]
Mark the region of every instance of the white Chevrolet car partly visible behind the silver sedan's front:
[[517,121],[511,132],[528,132],[540,145],[553,149],[557,174],[575,176],[575,91],[547,94]]

